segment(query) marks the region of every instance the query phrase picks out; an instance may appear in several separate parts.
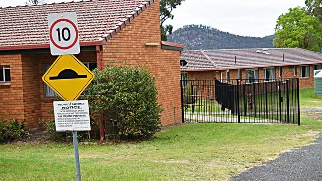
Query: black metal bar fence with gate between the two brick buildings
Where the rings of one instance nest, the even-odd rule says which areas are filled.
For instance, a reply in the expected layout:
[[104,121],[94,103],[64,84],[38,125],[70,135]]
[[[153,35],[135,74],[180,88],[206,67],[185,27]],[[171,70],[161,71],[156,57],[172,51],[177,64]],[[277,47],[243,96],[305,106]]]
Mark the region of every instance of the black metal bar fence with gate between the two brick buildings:
[[300,125],[299,79],[181,80],[183,122]]

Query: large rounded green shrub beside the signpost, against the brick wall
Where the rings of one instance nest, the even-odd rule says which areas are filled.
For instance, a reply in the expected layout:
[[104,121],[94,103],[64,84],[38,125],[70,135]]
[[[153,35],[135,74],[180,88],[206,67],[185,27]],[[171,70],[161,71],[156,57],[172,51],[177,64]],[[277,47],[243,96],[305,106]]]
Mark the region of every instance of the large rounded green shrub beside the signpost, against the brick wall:
[[93,119],[103,117],[107,138],[149,138],[160,130],[162,108],[147,68],[108,66],[94,74],[86,94]]

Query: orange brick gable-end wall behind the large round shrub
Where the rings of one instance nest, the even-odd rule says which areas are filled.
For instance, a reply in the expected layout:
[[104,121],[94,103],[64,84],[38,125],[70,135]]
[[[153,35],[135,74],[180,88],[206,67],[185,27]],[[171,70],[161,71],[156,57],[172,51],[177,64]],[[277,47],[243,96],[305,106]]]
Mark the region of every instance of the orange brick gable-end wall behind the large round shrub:
[[159,1],[152,3],[130,24],[112,37],[102,51],[103,67],[110,63],[124,63],[129,66],[148,65],[156,78],[163,125],[181,122],[180,96],[180,52],[164,50],[159,46],[145,46],[145,43],[160,43]]

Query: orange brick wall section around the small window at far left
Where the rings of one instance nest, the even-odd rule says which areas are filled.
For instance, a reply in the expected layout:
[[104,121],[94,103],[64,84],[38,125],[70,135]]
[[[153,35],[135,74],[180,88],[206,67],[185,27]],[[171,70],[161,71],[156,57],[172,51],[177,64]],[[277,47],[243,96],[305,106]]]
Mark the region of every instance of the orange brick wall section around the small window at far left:
[[11,75],[11,83],[0,83],[0,117],[22,121],[25,117],[21,55],[0,55],[0,66],[10,66]]

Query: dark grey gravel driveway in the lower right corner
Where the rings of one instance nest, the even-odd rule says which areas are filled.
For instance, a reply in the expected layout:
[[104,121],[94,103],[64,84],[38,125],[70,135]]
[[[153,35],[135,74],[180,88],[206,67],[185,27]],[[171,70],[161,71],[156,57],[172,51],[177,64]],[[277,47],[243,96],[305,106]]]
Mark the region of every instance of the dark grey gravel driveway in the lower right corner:
[[312,144],[232,177],[231,181],[322,181],[322,134]]

